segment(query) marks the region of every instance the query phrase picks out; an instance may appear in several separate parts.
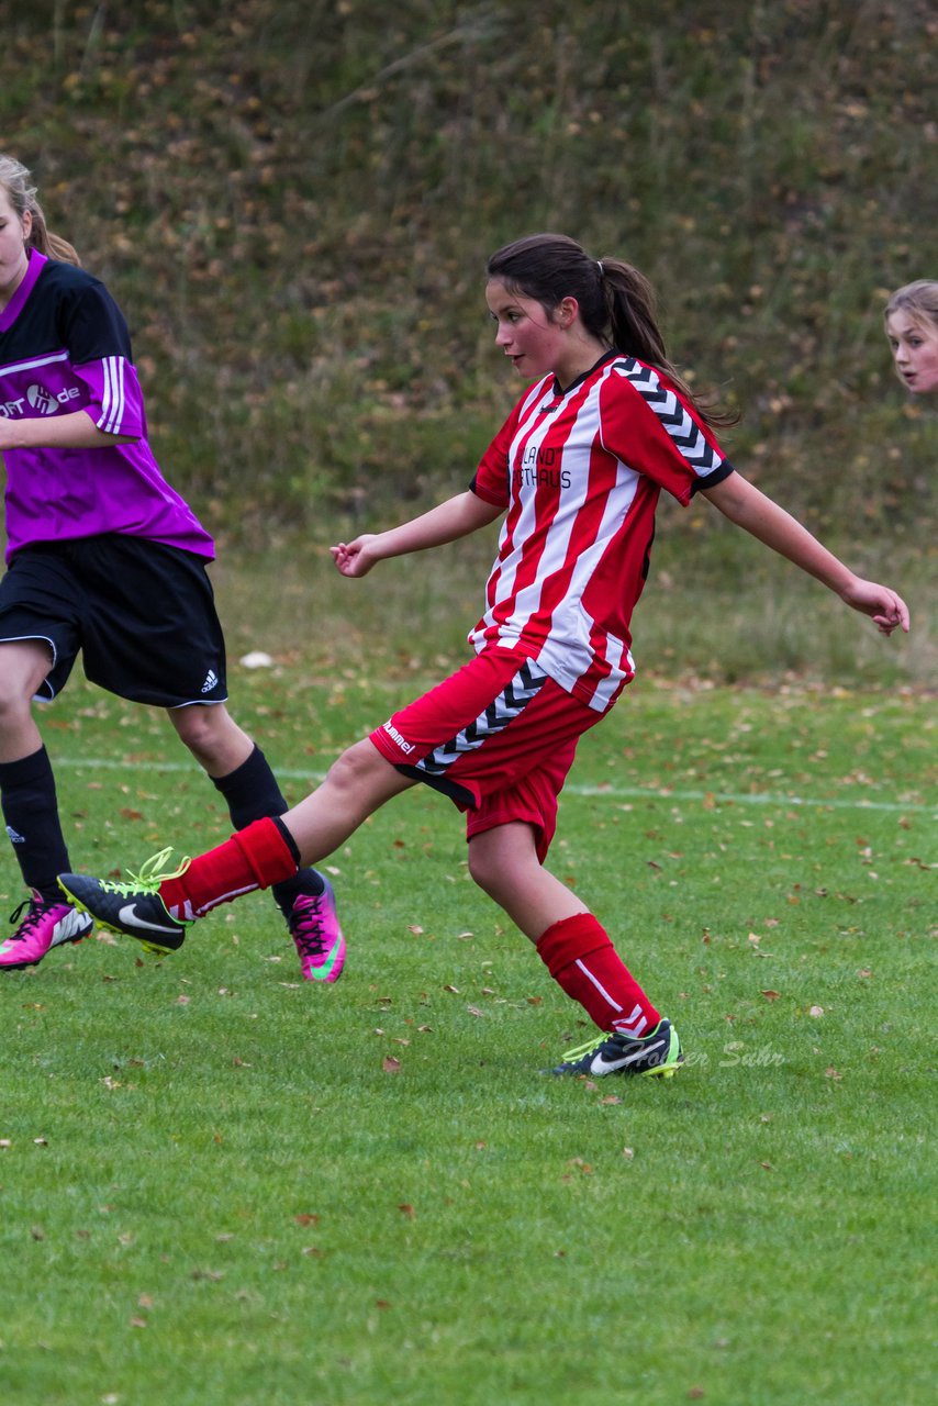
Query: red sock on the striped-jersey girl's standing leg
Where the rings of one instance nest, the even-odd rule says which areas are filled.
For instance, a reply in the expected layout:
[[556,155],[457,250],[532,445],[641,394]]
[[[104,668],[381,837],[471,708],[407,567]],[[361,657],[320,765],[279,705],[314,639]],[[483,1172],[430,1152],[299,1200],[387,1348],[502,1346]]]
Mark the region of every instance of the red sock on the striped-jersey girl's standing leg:
[[640,1039],[661,1019],[592,912],[551,924],[537,941],[537,955],[554,981],[579,1001],[600,1031]]

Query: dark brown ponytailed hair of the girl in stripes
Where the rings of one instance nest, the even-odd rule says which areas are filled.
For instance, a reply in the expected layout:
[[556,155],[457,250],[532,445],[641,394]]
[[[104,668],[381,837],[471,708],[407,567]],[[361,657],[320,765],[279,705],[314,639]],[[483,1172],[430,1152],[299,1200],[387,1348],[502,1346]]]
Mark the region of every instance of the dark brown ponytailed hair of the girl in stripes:
[[664,371],[705,425],[735,423],[735,415],[698,399],[671,364],[657,322],[654,288],[623,259],[591,259],[567,235],[529,235],[494,253],[487,273],[536,298],[547,314],[564,298],[575,298],[588,332],[616,352]]

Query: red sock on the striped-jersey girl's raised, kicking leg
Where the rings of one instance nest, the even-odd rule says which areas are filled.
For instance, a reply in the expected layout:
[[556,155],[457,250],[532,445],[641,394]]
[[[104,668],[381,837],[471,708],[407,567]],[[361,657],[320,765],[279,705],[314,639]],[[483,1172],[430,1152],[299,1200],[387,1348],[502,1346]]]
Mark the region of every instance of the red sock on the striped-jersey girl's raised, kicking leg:
[[193,859],[179,879],[165,879],[159,896],[174,918],[201,918],[219,903],[291,879],[297,869],[280,825],[255,820],[218,849]]

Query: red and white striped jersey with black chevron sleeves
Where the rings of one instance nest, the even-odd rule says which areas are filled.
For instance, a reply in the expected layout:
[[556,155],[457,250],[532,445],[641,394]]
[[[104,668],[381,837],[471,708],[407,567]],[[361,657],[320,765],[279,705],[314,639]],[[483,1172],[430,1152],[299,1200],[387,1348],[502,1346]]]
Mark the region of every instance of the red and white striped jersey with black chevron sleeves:
[[518,650],[598,711],[634,675],[631,612],[662,488],[685,506],[733,472],[664,373],[610,352],[560,391],[529,387],[473,491],[506,509],[477,651]]

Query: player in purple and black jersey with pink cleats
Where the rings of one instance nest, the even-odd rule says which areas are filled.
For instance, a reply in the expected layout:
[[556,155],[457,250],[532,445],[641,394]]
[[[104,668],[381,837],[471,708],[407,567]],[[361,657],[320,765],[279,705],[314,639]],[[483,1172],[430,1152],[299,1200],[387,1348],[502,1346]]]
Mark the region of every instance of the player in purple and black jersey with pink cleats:
[[[34,966],[91,928],[56,886],[70,865],[32,713],[65,688],[79,651],[91,682],[167,710],[236,828],[287,810],[225,707],[212,538],[150,450],[124,315],[46,229],[35,194],[30,172],[0,156],[0,801],[30,889],[0,970]],[[345,941],[328,882],[305,869],[274,896],[304,977],[335,981]]]

